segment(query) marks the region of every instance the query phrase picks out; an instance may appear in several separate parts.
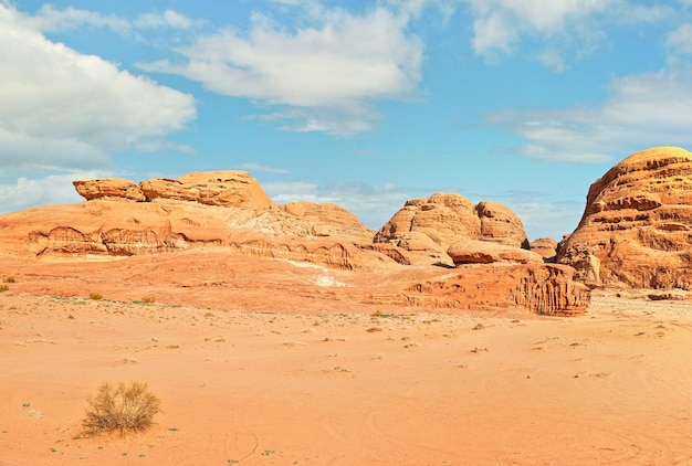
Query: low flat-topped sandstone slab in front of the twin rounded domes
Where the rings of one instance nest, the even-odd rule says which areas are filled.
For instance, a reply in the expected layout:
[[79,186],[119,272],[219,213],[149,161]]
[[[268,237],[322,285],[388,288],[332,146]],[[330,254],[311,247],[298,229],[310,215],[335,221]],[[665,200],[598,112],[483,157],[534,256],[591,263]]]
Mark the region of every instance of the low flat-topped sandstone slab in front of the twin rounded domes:
[[487,241],[460,241],[453,243],[447,254],[454,265],[493,264],[496,262],[514,264],[543,264],[543,257],[520,247],[506,246]]

